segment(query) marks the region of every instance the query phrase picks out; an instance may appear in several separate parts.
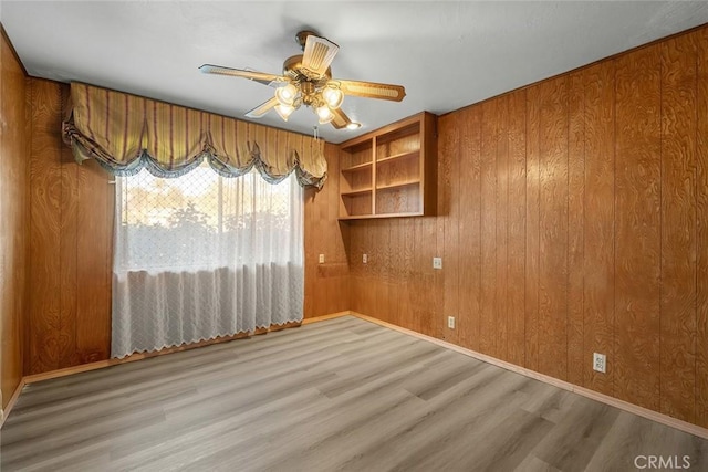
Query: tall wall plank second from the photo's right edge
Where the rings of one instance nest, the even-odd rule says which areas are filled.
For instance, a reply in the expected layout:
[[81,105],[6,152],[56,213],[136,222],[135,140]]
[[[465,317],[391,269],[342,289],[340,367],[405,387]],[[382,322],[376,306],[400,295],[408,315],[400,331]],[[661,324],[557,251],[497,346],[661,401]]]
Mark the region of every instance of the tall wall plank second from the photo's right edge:
[[696,44],[662,49],[660,411],[696,415]]

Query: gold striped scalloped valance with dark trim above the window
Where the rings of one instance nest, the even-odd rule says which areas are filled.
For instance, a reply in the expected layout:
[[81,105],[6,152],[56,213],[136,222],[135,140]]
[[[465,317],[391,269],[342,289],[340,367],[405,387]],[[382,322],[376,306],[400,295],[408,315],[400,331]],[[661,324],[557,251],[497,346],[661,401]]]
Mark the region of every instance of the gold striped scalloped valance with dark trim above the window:
[[76,160],[96,159],[115,175],[145,167],[177,177],[207,159],[225,177],[256,167],[273,183],[292,171],[303,186],[326,179],[321,139],[82,83],[71,84],[71,99],[64,140]]

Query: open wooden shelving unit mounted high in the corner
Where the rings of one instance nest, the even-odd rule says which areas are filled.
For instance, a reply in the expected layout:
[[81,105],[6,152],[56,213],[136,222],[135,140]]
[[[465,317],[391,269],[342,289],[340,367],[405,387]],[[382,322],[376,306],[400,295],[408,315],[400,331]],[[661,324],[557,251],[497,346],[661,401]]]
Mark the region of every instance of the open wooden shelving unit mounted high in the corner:
[[435,115],[423,112],[340,146],[340,219],[435,214]]

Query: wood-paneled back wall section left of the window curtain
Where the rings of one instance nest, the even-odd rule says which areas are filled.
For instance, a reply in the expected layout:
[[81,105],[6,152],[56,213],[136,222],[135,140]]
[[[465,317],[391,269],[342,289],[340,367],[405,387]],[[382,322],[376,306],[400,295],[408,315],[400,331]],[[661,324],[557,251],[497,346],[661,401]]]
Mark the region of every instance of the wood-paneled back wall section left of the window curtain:
[[108,358],[113,186],[61,139],[69,86],[28,80],[30,297],[24,374]]

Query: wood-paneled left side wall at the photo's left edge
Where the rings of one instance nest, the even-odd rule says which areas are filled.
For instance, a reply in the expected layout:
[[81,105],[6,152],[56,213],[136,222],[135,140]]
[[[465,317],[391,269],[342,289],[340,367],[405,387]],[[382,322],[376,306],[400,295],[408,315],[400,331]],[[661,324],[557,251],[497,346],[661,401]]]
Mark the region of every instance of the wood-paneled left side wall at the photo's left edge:
[[29,167],[24,70],[4,31],[0,36],[0,408],[4,409],[22,378]]

